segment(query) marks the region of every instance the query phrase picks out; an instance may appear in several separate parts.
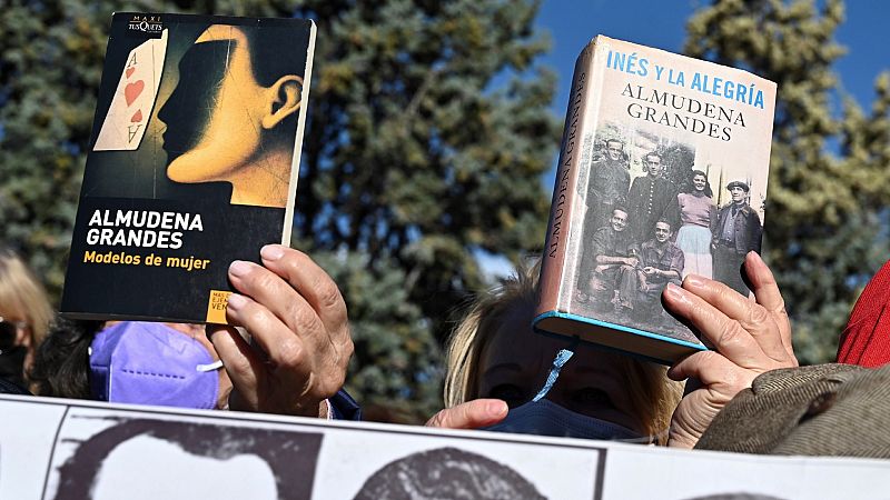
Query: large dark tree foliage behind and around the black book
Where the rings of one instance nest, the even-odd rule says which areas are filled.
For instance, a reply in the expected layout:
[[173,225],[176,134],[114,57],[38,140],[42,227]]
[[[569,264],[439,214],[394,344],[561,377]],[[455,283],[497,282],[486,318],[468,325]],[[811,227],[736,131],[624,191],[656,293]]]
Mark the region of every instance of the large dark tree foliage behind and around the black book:
[[112,11],[317,22],[295,239],[343,288],[350,388],[414,419],[441,404],[446,317],[476,250],[543,243],[558,143],[548,47],[522,0],[13,0],[0,10],[0,224],[53,293]]

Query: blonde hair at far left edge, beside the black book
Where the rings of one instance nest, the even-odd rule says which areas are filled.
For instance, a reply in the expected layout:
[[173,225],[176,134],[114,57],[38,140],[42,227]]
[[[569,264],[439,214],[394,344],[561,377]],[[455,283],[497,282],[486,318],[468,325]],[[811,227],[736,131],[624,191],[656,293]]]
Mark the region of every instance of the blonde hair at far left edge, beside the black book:
[[23,318],[31,332],[31,350],[47,337],[52,307],[40,280],[12,250],[0,250],[0,314]]

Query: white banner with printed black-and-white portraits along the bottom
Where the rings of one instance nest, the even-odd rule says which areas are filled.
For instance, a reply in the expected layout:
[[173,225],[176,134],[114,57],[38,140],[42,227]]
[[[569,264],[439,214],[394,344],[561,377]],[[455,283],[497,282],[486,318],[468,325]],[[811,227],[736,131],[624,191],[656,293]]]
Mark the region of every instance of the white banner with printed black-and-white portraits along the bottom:
[[2,499],[890,498],[890,461],[0,397]]

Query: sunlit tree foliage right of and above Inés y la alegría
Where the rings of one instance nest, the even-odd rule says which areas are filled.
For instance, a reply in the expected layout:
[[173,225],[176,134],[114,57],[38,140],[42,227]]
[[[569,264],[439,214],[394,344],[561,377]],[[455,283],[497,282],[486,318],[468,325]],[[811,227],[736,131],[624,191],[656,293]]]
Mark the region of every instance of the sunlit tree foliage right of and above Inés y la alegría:
[[809,363],[833,359],[852,302],[888,258],[890,77],[868,114],[844,97],[832,70],[842,21],[842,0],[715,1],[690,19],[685,46],[779,86],[764,250]]

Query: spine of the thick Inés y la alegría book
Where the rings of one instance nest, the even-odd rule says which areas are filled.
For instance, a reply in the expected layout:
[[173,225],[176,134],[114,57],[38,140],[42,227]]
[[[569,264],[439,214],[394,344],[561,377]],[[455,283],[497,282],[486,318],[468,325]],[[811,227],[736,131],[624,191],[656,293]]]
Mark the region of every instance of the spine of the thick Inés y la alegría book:
[[568,96],[568,109],[565,113],[560,163],[556,169],[550,222],[541,262],[540,296],[535,317],[558,309],[570,229],[573,220],[580,220],[577,217],[573,217],[572,212],[576,207],[575,186],[582,157],[583,136],[581,132],[584,129],[584,118],[589,107],[589,89],[592,80],[590,70],[594,47],[594,43],[587,44],[575,61],[572,93]]

